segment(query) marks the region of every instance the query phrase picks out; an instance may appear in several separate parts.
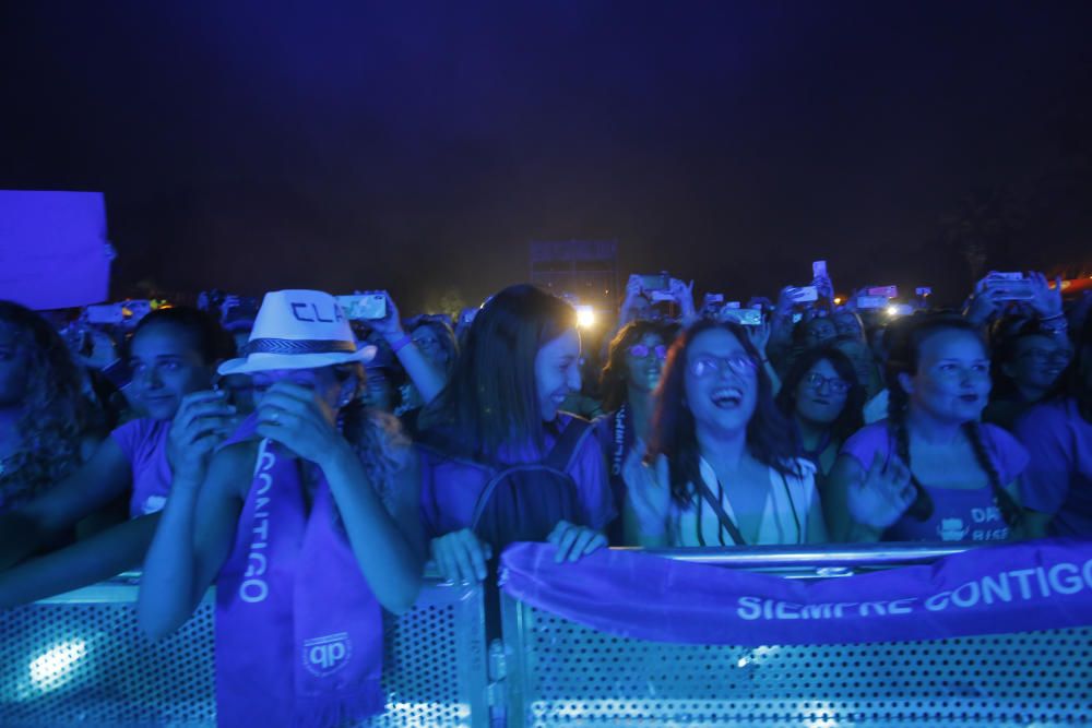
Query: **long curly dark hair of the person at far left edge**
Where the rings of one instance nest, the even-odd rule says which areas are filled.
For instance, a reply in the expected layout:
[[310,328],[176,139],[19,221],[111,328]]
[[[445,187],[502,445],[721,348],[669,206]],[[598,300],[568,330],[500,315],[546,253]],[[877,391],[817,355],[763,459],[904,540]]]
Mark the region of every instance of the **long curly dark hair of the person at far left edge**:
[[0,326],[26,353],[26,389],[17,450],[0,473],[0,504],[22,502],[64,478],[80,464],[88,419],[83,377],[60,334],[34,311],[0,301]]

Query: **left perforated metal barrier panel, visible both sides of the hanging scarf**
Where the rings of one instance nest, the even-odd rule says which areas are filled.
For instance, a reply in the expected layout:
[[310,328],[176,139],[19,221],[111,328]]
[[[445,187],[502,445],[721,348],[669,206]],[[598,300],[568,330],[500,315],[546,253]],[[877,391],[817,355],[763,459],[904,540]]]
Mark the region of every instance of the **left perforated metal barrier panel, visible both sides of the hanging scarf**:
[[[214,607],[153,644],[132,585],[0,611],[0,726],[215,726]],[[383,727],[486,726],[480,587],[431,583],[387,634]]]

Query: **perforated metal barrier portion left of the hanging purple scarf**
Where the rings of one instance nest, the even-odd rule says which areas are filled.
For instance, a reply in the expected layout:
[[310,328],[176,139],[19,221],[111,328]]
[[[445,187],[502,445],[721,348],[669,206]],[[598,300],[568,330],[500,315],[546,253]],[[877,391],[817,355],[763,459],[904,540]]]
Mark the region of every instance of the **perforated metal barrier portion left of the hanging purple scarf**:
[[131,600],[36,604],[0,612],[0,724],[215,724],[213,606],[161,644]]

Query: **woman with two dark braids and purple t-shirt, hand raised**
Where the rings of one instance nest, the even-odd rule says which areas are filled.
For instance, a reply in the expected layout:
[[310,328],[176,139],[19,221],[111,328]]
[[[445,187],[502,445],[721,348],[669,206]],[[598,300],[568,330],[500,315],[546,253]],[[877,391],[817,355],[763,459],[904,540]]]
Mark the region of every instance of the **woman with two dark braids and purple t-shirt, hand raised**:
[[1004,540],[1019,530],[1016,481],[1028,454],[981,425],[989,354],[968,321],[914,321],[887,361],[888,419],[843,445],[831,472],[827,523],[834,540]]

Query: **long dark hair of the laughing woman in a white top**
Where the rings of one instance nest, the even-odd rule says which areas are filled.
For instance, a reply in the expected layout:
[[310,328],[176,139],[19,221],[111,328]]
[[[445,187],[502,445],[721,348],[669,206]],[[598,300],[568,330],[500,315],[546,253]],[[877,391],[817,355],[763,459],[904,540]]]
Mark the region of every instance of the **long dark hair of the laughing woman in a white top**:
[[693,484],[701,477],[697,425],[686,405],[687,356],[695,338],[715,329],[735,336],[756,365],[758,402],[755,414],[747,422],[747,452],[783,475],[800,475],[792,425],[773,403],[770,377],[759,366],[761,357],[744,327],[734,322],[702,320],[684,331],[667,353],[664,375],[656,390],[656,414],[646,455],[649,463],[655,462],[660,455],[667,456],[672,498],[680,505],[690,503]]

